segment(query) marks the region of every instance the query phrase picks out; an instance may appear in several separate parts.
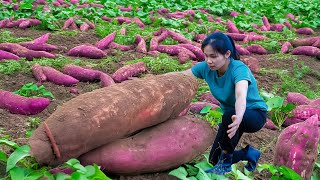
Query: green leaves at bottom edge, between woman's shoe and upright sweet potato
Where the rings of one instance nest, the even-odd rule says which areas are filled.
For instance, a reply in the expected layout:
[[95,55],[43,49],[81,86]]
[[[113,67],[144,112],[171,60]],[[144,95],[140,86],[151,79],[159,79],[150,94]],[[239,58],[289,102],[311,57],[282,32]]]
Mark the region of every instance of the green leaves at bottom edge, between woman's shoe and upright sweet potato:
[[259,173],[262,170],[268,170],[271,172],[272,176],[270,179],[283,179],[283,180],[302,180],[302,177],[297,174],[292,169],[286,167],[286,166],[275,166],[272,164],[262,164],[257,167],[257,170]]

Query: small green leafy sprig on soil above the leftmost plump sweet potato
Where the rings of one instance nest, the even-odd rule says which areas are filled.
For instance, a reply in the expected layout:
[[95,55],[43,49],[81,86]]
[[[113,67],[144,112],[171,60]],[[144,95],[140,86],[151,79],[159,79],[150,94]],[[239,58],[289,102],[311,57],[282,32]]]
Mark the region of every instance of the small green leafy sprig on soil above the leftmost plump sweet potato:
[[25,84],[19,90],[13,92],[13,94],[19,94],[25,97],[50,97],[54,99],[53,94],[47,91],[43,85],[38,86],[32,82]]

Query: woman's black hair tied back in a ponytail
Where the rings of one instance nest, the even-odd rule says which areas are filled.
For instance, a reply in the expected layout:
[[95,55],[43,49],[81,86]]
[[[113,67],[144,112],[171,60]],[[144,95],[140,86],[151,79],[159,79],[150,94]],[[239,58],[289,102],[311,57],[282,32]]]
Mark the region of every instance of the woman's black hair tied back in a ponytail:
[[238,51],[236,50],[235,44],[233,39],[225,35],[221,32],[215,32],[208,36],[201,44],[201,49],[203,49],[209,45],[212,47],[212,49],[217,50],[220,54],[226,54],[229,50],[231,52],[231,57],[235,60],[240,60],[240,55]]

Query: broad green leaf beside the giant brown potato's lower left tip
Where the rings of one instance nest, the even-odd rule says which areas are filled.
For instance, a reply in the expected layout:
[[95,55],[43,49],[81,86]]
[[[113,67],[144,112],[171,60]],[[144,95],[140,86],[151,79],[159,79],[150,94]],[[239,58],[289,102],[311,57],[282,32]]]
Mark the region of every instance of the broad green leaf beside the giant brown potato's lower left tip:
[[27,156],[30,156],[30,146],[24,145],[17,148],[8,158],[6,171],[10,171],[16,166],[17,162]]

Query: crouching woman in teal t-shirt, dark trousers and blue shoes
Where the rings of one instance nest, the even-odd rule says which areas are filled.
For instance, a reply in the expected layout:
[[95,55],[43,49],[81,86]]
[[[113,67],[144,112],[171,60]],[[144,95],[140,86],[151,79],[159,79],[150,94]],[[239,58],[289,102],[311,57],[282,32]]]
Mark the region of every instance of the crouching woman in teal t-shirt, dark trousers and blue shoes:
[[223,111],[209,156],[210,163],[215,166],[207,172],[225,174],[240,160],[247,160],[246,169],[254,171],[260,152],[250,145],[240,151],[235,151],[235,147],[244,132],[257,132],[264,126],[267,105],[259,95],[250,69],[239,61],[229,36],[214,33],[203,41],[201,49],[205,61],[183,73],[204,79]]

